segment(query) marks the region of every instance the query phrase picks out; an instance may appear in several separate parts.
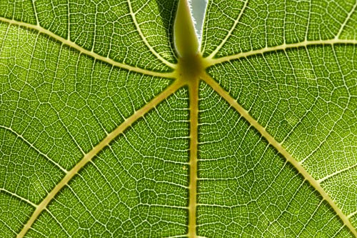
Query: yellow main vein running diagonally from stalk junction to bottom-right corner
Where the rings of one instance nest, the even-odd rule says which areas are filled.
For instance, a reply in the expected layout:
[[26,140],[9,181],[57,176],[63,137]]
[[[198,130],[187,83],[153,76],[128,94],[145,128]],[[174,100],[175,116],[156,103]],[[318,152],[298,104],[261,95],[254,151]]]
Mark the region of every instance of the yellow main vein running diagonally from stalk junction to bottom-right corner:
[[340,217],[343,224],[346,225],[346,227],[348,227],[348,229],[350,229],[351,232],[357,237],[357,231],[348,220],[348,217],[343,214],[341,209],[337,207],[336,203],[333,202],[333,199],[331,199],[331,197],[329,197],[325,190],[323,190],[323,188],[320,186],[320,183],[316,181],[316,179],[314,179],[310,174],[308,174],[308,172],[306,172],[302,165],[299,164],[296,159],[294,159],[291,154],[289,154],[286,149],[282,147],[281,143],[277,142],[276,139],[271,136],[271,134],[268,134],[266,129],[261,126],[261,124],[259,124],[256,119],[253,119],[253,117],[249,115],[248,111],[246,111],[243,106],[238,104],[236,99],[233,99],[231,95],[224,91],[224,89],[221,88],[221,86],[214,79],[212,79],[211,76],[208,74],[203,74],[202,79],[206,81],[206,83],[209,84],[219,95],[221,95],[223,99],[226,99],[226,101],[228,101],[228,103],[234,109],[236,109],[236,111],[238,111],[238,113],[241,114],[241,116],[243,116],[243,118],[246,119],[247,122],[249,122],[251,126],[253,126],[268,141],[269,144],[271,144],[281,155],[283,155],[283,157],[285,157],[288,162],[293,165],[293,167],[295,167],[296,170],[298,170],[298,172],[311,184],[311,186],[316,189],[323,200],[330,204],[331,208],[336,212],[338,217]]

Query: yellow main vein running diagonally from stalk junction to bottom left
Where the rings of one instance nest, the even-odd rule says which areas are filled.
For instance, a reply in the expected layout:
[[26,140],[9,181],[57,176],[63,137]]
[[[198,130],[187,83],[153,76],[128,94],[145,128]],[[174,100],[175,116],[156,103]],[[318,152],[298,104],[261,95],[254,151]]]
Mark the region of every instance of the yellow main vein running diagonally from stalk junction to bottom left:
[[132,114],[128,119],[126,119],[119,127],[116,127],[113,132],[109,133],[106,138],[104,138],[99,144],[97,144],[93,149],[88,154],[85,154],[84,157],[79,161],[67,174],[66,176],[59,182],[59,184],[52,189],[49,194],[45,197],[44,200],[36,207],[35,212],[31,215],[29,221],[24,225],[22,228],[21,232],[17,235],[17,237],[24,237],[26,232],[31,228],[32,224],[36,221],[37,217],[39,217],[39,214],[47,207],[49,202],[54,199],[56,194],[64,187],[68,182],[74,177],[74,175],[79,172],[81,168],[83,168],[88,162],[93,159],[93,157],[96,156],[99,152],[101,152],[104,147],[109,145],[109,143],[115,139],[119,134],[124,132],[125,129],[129,128],[131,124],[136,122],[137,119],[139,119],[141,116],[144,116],[146,112],[150,111],[151,109],[154,109],[156,105],[158,105],[161,101],[164,101],[168,96],[171,94],[174,94],[174,92],[179,89],[183,83],[181,81],[174,81],[173,84],[171,84],[167,89],[165,89],[161,94],[156,96],[154,99],[149,101],[148,104],[143,106],[141,109],[136,111],[134,114]]

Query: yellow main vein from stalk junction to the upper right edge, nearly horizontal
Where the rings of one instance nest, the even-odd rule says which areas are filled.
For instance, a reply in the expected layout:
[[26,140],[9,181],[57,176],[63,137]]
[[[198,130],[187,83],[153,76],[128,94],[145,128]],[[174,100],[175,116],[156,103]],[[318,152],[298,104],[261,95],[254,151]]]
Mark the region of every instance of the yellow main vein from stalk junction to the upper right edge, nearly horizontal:
[[312,46],[312,45],[333,45],[333,44],[357,44],[356,39],[328,39],[328,40],[318,40],[318,41],[301,41],[294,44],[281,44],[280,46],[271,46],[265,47],[263,49],[257,49],[253,51],[246,51],[241,52],[238,54],[230,55],[230,56],[223,56],[217,59],[205,59],[205,66],[213,66],[214,64],[220,64],[225,61],[230,61],[233,59],[241,59],[248,56],[256,55],[256,54],[264,54],[266,52],[271,51],[279,51],[279,50],[286,50],[286,49],[294,49],[303,46]]

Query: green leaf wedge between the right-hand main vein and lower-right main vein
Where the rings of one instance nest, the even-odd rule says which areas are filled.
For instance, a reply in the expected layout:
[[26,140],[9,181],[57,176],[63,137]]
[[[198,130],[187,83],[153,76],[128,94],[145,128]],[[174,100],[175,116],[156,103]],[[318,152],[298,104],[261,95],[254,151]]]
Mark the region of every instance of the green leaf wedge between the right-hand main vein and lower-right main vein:
[[351,45],[309,46],[209,70],[294,159],[321,179],[345,214],[357,207],[356,56]]

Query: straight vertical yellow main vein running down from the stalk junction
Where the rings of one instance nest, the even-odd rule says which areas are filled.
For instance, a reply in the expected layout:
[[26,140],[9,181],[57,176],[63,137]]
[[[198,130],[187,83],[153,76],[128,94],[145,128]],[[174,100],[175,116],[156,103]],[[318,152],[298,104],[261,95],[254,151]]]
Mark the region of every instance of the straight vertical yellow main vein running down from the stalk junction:
[[188,237],[196,238],[197,146],[198,146],[198,79],[188,81],[190,100],[190,184],[188,204]]

